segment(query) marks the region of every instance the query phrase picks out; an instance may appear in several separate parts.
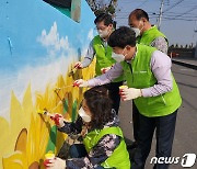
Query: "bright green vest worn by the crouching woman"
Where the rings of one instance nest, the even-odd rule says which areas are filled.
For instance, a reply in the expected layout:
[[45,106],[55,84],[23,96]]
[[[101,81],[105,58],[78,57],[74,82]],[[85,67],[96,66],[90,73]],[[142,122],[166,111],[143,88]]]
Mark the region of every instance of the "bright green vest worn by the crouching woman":
[[94,129],[86,134],[83,139],[86,151],[89,153],[97,142],[106,134],[115,134],[121,137],[120,144],[114,153],[104,162],[101,164],[104,168],[130,169],[129,154],[126,148],[123,132],[119,127],[105,127],[103,129]]

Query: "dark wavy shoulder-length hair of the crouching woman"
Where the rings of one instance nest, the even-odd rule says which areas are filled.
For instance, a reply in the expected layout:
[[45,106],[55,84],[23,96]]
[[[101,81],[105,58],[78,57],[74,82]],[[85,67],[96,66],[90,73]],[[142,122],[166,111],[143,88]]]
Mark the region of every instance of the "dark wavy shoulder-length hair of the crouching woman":
[[106,123],[114,120],[112,100],[106,88],[100,86],[93,87],[86,90],[83,97],[93,115],[90,124],[92,128],[103,128]]

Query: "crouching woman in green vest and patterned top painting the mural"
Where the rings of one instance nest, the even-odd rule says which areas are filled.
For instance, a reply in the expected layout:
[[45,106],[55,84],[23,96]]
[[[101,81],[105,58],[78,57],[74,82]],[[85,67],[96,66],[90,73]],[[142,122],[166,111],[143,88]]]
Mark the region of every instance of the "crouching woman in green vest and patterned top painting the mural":
[[84,92],[76,122],[66,122],[62,116],[55,122],[60,132],[80,134],[83,144],[71,146],[69,159],[49,160],[47,169],[130,169],[129,154],[106,88],[94,87]]

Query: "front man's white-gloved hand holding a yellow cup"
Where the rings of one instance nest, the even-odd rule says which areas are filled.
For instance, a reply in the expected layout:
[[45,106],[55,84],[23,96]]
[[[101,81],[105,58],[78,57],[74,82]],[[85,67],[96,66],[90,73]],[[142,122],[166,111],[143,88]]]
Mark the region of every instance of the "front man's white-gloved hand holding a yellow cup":
[[120,92],[120,97],[123,101],[142,97],[141,89],[136,89],[136,88],[123,89]]

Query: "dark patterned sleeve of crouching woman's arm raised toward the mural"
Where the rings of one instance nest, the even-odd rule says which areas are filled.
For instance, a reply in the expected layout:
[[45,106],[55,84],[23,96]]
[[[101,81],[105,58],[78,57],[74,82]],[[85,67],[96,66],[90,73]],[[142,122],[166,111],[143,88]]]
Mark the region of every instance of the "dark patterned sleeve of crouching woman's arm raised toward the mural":
[[74,123],[63,122],[65,125],[62,127],[58,127],[59,132],[63,132],[67,134],[79,134],[82,131],[82,119],[79,116]]

